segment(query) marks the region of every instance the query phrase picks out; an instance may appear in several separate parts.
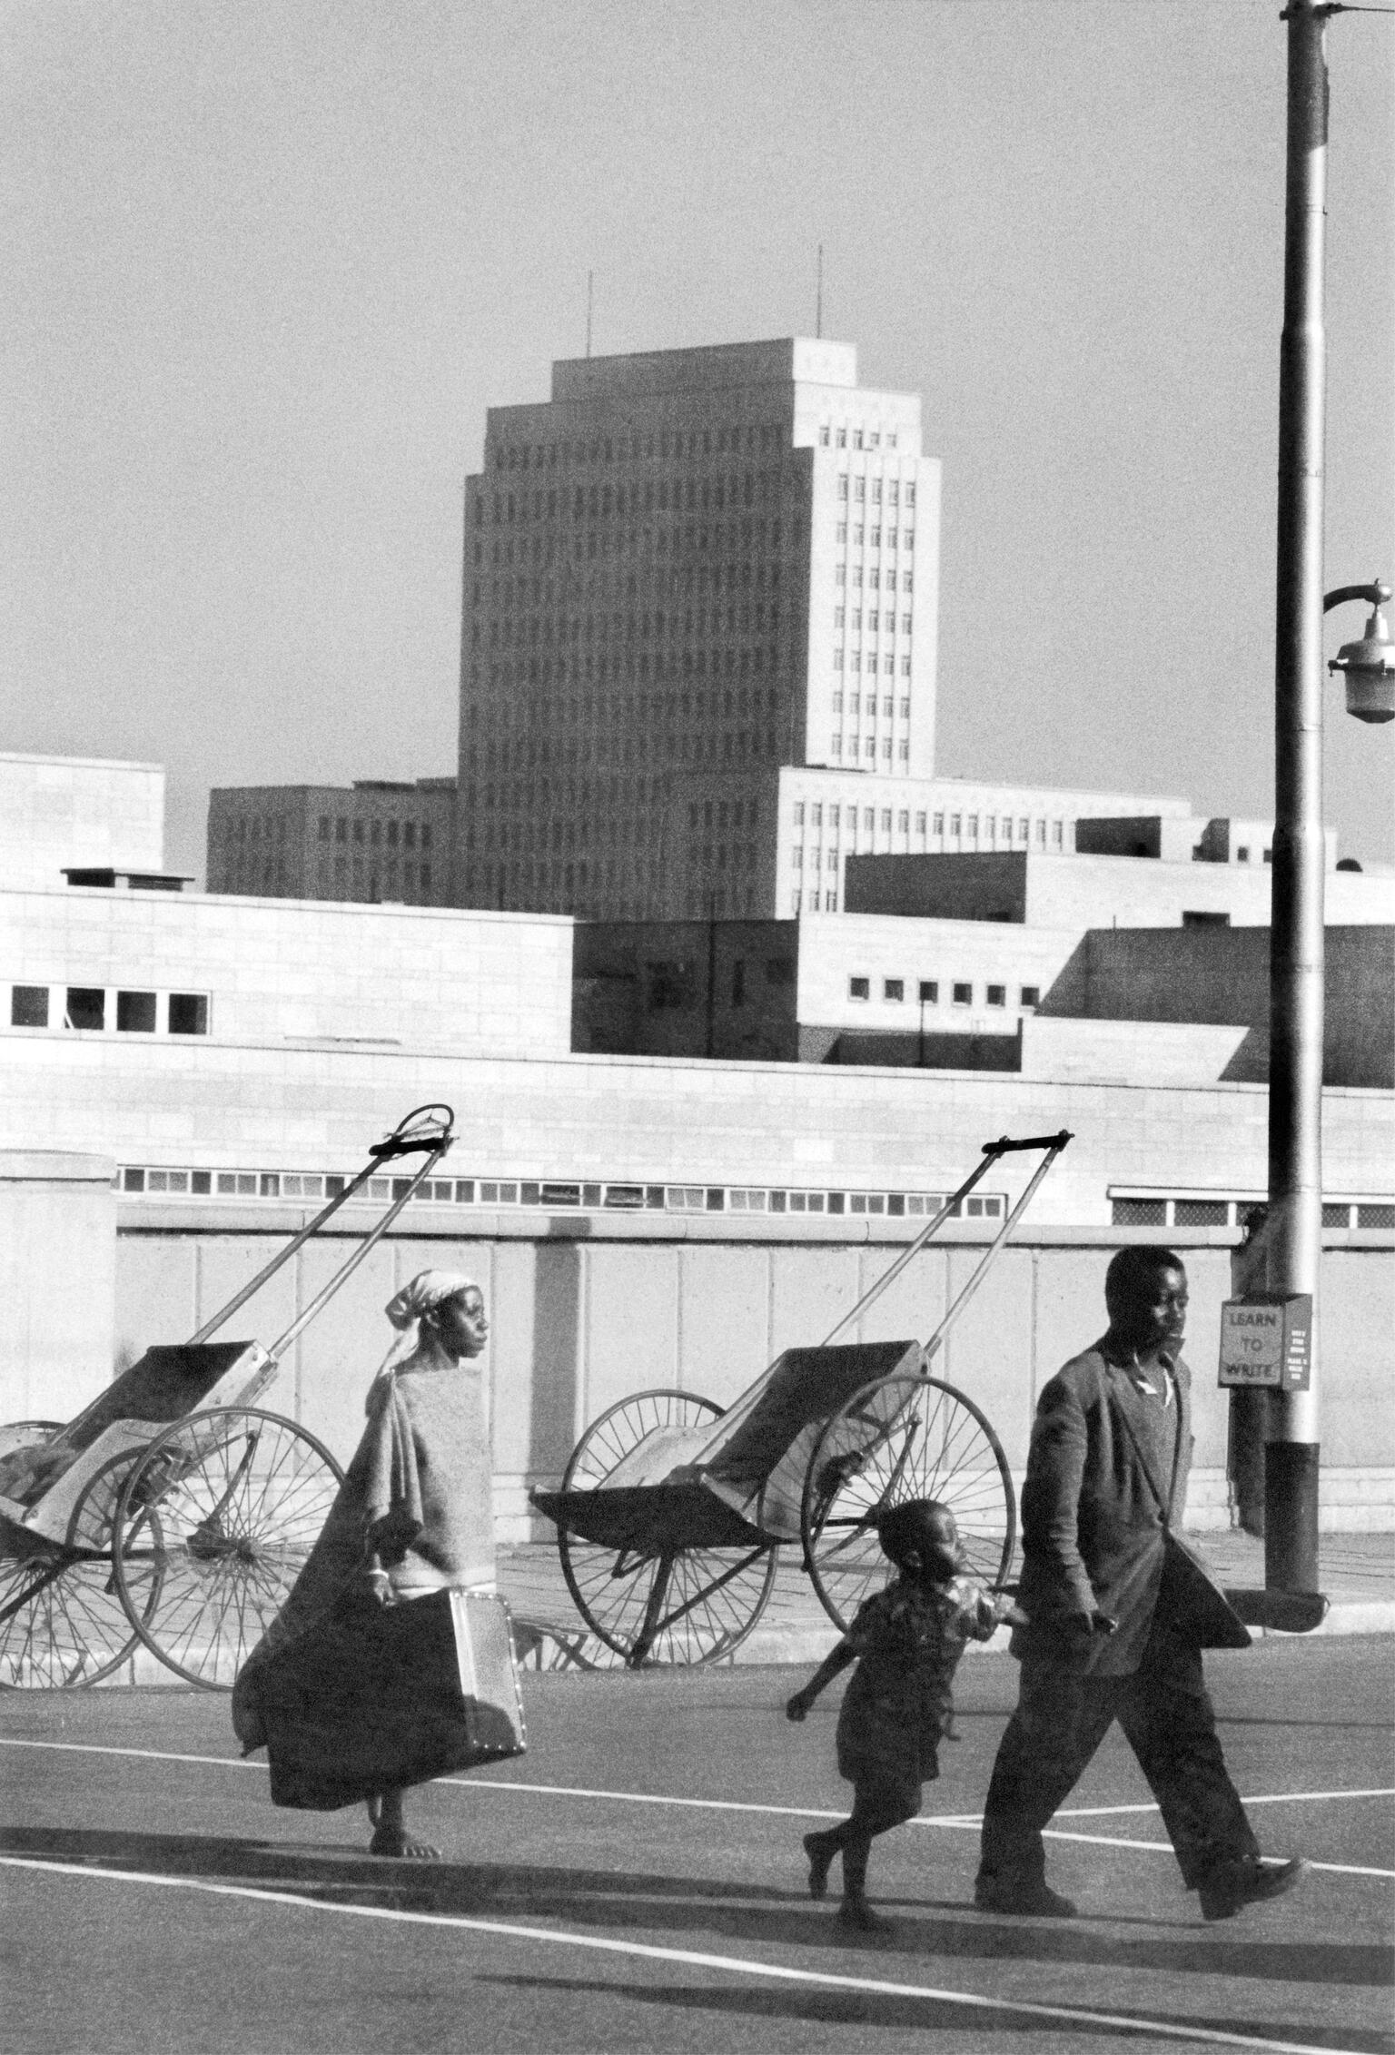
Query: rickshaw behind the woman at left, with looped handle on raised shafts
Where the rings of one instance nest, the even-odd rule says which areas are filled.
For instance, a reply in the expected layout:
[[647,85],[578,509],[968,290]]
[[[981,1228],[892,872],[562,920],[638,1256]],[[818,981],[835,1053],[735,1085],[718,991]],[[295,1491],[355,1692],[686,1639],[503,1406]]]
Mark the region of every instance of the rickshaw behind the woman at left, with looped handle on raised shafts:
[[[419,1106],[316,1217],[187,1342],[148,1348],[76,1420],[0,1428],[0,1687],[99,1683],[144,1646],[189,1683],[230,1689],[281,1609],[343,1471],[257,1399],[292,1342],[357,1270],[450,1149],[454,1114]],[[392,1202],[267,1348],[220,1328],[370,1178]]]

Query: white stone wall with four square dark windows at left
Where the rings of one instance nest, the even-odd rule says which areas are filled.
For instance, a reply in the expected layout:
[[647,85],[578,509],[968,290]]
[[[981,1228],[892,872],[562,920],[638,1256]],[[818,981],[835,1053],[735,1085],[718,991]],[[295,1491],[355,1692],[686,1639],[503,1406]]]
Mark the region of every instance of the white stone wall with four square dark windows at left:
[[[218,1042],[380,1040],[460,1054],[571,1048],[571,921],[173,892],[0,892],[6,1054],[12,984],[205,993]],[[162,1017],[162,1015],[160,1015]],[[105,1034],[127,1040],[107,1005]],[[142,1038],[146,1040],[146,1038]],[[92,1060],[101,1062],[101,1050]]]

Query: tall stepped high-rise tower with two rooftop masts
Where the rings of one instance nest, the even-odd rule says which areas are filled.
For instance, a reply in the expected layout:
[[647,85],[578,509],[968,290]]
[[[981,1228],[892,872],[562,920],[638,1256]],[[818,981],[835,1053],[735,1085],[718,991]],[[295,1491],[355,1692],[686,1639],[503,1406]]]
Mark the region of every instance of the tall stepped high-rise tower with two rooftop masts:
[[781,769],[935,769],[939,464],[849,343],[553,366],[466,481],[466,904],[787,910]]

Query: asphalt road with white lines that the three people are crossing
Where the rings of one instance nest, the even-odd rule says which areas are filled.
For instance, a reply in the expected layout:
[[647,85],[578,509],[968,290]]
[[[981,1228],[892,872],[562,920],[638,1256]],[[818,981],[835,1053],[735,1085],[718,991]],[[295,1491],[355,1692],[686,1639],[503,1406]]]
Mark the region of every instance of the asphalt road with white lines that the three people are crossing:
[[368,1858],[362,1813],[277,1813],[226,1697],[10,1693],[0,2047],[922,2055],[933,2028],[947,2055],[1395,2055],[1395,1644],[1268,1642],[1210,1673],[1266,1852],[1323,1864],[1298,1893],[1204,1926],[1114,1734],[1052,1843],[1083,1917],[976,1913],[964,1815],[1015,1687],[978,1656],[927,1819],[873,1850],[885,1944],[803,1891],[799,1835],[846,1786],[836,1689],[781,1716],[801,1673],[530,1675],[528,1755],[409,1798],[440,1866]]

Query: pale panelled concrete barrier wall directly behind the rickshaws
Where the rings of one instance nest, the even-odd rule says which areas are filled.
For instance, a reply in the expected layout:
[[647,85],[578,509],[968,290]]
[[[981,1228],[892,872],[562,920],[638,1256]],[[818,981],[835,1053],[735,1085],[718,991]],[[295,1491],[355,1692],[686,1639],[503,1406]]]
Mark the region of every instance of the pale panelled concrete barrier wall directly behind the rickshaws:
[[[809,1225],[793,1239],[777,1223],[614,1225],[553,1221],[551,1233],[491,1217],[473,1239],[401,1235],[382,1241],[290,1350],[261,1404],[302,1420],[347,1459],[364,1393],[392,1332],[382,1307],[427,1266],[462,1270],[489,1301],[487,1352],[501,1541],[534,1533],[528,1488],[561,1475],[567,1455],[606,1406],[655,1385],[719,1404],[752,1383],[781,1348],[818,1342],[881,1274],[892,1239]],[[485,1229],[481,1233],[481,1227]],[[586,1231],[590,1229],[590,1233]],[[982,1241],[968,1225],[920,1251],[857,1336],[925,1338],[970,1276]],[[117,1367],[150,1342],[189,1336],[255,1274],[279,1235],[191,1225],[142,1227],[117,1239]],[[908,1241],[910,1235],[902,1237]],[[1103,1328],[1103,1272],[1124,1239],[1144,1231],[1038,1229],[1003,1251],[955,1325],[939,1375],[992,1420],[1021,1471],[1042,1383]],[[1222,1231],[1179,1241],[1192,1282],[1187,1360],[1196,1379],[1196,1469],[1190,1517],[1227,1525],[1227,1397],[1216,1387],[1220,1303],[1231,1293]],[[1385,1245],[1381,1245],[1385,1243]],[[236,1315],[228,1336],[269,1344],[353,1247],[310,1243]],[[1395,1527],[1395,1245],[1346,1237],[1323,1256],[1323,1523]],[[551,1533],[542,1527],[540,1531]]]

